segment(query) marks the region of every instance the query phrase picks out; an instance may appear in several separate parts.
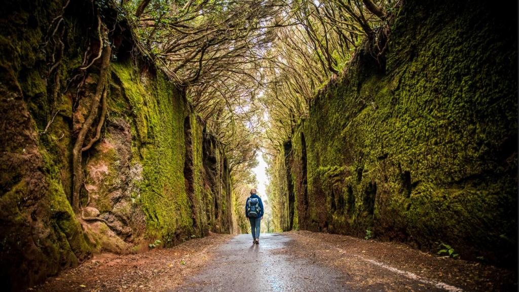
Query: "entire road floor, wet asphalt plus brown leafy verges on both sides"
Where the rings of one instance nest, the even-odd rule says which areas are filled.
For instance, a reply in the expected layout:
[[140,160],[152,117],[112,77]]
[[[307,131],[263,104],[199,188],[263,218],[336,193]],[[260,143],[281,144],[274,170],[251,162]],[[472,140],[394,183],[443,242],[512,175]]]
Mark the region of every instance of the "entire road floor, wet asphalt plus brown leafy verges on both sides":
[[211,234],[140,254],[95,255],[38,292],[517,291],[516,271],[390,242],[309,231]]

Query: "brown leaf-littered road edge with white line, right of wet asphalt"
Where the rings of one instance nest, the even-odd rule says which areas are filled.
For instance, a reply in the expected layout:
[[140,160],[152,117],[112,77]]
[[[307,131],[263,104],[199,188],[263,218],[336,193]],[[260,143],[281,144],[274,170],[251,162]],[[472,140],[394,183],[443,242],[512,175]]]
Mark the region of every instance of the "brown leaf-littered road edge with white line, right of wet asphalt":
[[343,271],[354,289],[517,290],[516,271],[438,257],[399,243],[309,231],[284,234],[294,238],[295,247],[283,249],[283,253],[312,258]]

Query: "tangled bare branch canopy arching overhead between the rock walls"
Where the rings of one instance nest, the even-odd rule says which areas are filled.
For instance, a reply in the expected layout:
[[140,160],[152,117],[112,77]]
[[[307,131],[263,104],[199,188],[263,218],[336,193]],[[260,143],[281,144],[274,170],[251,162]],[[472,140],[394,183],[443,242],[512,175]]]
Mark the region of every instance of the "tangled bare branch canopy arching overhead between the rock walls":
[[[390,0],[122,0],[141,43],[226,145],[232,169],[276,151],[353,52],[380,40]],[[133,12],[134,11],[134,12]],[[133,12],[133,13],[132,13]],[[363,42],[363,39],[366,41]],[[383,48],[372,50],[374,57]]]

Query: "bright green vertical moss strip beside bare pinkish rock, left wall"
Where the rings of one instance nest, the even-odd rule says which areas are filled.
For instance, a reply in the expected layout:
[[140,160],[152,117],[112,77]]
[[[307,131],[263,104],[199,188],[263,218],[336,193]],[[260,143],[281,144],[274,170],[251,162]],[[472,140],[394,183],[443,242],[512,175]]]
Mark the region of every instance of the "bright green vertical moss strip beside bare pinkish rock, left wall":
[[[172,243],[181,234],[193,233],[182,175],[186,111],[182,96],[161,73],[156,77],[139,76],[129,63],[114,63],[112,68],[136,123],[139,141],[134,143],[134,151],[143,166],[140,201],[148,236]],[[142,84],[146,78],[147,83]]]

